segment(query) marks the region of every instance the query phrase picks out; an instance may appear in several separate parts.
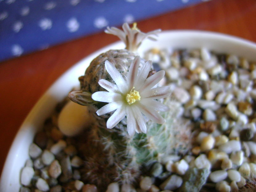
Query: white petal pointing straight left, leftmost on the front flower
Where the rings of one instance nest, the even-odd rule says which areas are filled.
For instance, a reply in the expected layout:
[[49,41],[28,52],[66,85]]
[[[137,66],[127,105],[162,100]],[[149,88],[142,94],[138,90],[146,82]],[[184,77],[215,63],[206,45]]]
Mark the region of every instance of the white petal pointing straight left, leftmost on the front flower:
[[94,101],[100,101],[100,102],[115,102],[115,101],[121,101],[122,96],[119,93],[115,92],[107,92],[107,91],[98,91],[92,94],[91,98]]

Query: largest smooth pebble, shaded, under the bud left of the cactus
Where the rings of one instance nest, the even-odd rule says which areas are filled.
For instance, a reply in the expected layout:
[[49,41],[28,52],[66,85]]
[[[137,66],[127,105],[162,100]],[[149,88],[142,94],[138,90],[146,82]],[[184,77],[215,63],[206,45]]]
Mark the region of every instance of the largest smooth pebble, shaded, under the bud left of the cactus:
[[84,128],[91,125],[93,118],[87,106],[75,102],[68,102],[61,110],[58,117],[58,127],[66,136],[75,136]]

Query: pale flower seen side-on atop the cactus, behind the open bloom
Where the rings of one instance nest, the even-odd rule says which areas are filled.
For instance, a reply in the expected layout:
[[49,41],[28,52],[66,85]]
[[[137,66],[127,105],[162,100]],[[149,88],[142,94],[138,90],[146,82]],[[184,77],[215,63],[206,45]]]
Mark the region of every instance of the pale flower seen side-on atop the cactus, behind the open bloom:
[[161,31],[160,29],[149,31],[148,33],[143,33],[137,28],[137,24],[133,23],[133,27],[130,28],[128,23],[124,23],[123,31],[116,27],[107,27],[105,33],[116,35],[126,44],[126,49],[128,51],[136,52],[138,47],[141,45],[141,42],[148,38],[155,41],[156,39],[150,35],[155,35]]

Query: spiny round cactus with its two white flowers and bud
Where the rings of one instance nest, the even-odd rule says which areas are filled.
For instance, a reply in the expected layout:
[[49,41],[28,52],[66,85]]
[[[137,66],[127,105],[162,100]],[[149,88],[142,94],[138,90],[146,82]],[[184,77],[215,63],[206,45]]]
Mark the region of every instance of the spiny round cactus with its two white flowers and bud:
[[[123,30],[108,27],[106,32],[120,37],[126,49],[96,57],[79,77],[81,90],[69,93],[72,101],[88,106],[97,119],[86,130],[81,148],[86,159],[83,179],[101,189],[111,182],[136,182],[143,166],[163,161],[178,148],[174,137],[180,127],[173,124],[175,108],[170,110],[160,102],[170,95],[170,87],[156,87],[165,72],[155,72],[152,61],[135,53],[142,40],[154,40],[150,35],[160,30],[143,33],[127,23]],[[169,105],[169,101],[165,103]]]

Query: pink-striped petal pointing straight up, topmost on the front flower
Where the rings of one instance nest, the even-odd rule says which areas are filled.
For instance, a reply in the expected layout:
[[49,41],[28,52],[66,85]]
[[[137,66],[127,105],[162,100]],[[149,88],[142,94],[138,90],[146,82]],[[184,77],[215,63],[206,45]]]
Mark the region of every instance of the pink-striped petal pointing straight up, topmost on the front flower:
[[129,85],[128,85],[129,90],[132,89],[132,87],[133,87],[133,85],[134,85],[134,83],[137,79],[140,62],[141,62],[140,56],[136,56],[134,58],[134,60],[132,61],[132,64],[131,64],[130,69],[128,71],[127,81],[129,83]]

